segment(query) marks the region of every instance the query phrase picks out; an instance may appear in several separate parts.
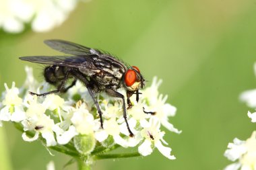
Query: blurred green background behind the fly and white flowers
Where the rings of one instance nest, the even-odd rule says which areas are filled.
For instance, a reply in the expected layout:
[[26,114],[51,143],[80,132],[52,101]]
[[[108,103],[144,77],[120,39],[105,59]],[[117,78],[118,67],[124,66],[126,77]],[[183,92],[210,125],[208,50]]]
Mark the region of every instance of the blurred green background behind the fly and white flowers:
[[[1,35],[0,89],[25,79],[19,56],[59,54],[45,39],[59,38],[106,50],[139,67],[149,81],[163,79],[160,92],[178,108],[170,122],[182,134],[166,130],[177,160],[156,150],[148,157],[98,161],[94,169],[223,169],[228,142],[251,136],[255,124],[247,117],[241,92],[256,87],[256,1],[96,1],[79,3],[69,19],[49,33]],[[24,142],[12,124],[0,128],[0,169],[46,169],[55,161],[63,169],[69,157],[48,151],[40,142]],[[127,148],[127,152],[131,149]],[[75,165],[65,169],[75,169]]]

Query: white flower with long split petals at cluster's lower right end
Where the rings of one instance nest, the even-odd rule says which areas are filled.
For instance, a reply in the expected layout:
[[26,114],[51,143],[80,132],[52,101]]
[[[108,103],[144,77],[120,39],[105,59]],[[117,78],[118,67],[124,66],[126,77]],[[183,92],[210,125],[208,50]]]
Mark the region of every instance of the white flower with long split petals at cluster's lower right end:
[[158,151],[167,157],[168,159],[176,159],[173,155],[170,155],[171,148],[162,145],[168,144],[164,139],[164,132],[160,131],[160,122],[154,118],[150,119],[151,126],[149,128],[143,128],[141,130],[141,136],[145,138],[144,142],[139,146],[139,153],[143,156],[150,155],[152,153],[152,145],[158,148]]

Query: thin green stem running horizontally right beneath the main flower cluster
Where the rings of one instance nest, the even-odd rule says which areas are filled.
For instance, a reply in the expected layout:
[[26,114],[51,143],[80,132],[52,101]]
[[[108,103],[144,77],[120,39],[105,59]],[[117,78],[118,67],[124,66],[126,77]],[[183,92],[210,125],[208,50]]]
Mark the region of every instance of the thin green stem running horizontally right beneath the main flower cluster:
[[141,155],[138,152],[135,152],[135,153],[100,154],[100,155],[95,155],[94,160],[119,159],[119,158],[130,158],[130,157],[139,157],[139,156],[141,156]]

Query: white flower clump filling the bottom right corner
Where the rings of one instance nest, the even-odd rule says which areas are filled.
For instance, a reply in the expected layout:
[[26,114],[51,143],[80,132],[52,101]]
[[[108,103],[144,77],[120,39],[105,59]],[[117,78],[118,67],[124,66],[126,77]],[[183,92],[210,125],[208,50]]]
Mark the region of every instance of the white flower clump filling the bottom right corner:
[[225,170],[236,170],[240,167],[242,170],[256,169],[256,131],[246,141],[235,138],[234,143],[228,144],[228,149],[224,155],[230,161],[238,160],[238,163],[228,165]]

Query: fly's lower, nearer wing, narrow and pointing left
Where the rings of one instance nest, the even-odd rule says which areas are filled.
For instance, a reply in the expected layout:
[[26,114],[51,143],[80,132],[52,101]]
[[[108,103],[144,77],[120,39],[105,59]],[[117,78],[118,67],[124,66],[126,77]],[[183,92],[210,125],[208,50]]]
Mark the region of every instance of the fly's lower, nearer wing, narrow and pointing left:
[[21,60],[36,62],[43,65],[57,65],[83,69],[98,70],[92,56],[22,56]]

